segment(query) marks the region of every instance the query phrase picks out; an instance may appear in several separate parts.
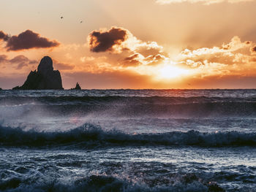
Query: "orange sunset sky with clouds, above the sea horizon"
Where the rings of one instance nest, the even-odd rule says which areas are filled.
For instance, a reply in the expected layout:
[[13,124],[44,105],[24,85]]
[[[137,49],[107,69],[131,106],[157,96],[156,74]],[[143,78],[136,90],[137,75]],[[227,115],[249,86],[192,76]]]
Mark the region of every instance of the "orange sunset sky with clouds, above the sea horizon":
[[256,88],[256,0],[1,0],[0,88]]

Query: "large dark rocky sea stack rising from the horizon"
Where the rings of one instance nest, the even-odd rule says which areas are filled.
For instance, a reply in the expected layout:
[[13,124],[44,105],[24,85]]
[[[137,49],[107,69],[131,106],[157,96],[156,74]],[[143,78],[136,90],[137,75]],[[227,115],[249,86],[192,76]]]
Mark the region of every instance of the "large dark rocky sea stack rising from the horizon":
[[22,86],[12,89],[20,90],[42,90],[42,89],[63,89],[61,74],[53,70],[53,60],[45,56],[41,59],[37,70],[31,71]]

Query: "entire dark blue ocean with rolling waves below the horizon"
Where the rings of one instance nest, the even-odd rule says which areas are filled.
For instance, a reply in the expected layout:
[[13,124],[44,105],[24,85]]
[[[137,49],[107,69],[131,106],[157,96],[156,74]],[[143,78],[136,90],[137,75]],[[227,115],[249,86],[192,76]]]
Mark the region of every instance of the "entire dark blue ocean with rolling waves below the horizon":
[[0,191],[256,191],[256,90],[0,91]]

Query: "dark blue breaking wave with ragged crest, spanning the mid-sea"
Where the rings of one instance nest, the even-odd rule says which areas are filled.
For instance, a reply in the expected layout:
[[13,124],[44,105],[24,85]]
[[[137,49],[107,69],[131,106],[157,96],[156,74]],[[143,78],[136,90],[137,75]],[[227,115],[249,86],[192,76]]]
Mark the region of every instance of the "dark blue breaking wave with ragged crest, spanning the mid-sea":
[[31,147],[108,147],[108,146],[198,146],[237,147],[256,146],[256,133],[238,131],[202,133],[199,131],[173,131],[161,134],[125,134],[104,131],[100,126],[85,123],[69,131],[39,132],[23,128],[0,126],[0,145]]

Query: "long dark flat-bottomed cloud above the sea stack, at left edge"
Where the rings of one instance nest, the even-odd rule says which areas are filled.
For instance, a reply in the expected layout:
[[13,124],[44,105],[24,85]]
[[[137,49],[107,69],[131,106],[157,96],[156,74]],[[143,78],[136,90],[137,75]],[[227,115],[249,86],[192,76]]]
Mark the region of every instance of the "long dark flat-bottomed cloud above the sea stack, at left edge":
[[26,30],[18,36],[8,36],[0,31],[0,39],[7,42],[5,48],[7,51],[10,50],[29,50],[31,48],[50,48],[59,46],[59,42],[55,40],[51,41],[45,37],[40,37],[39,34],[34,33],[31,30]]

